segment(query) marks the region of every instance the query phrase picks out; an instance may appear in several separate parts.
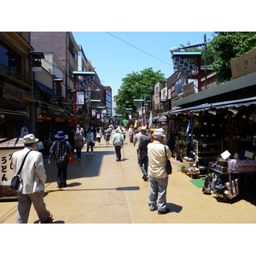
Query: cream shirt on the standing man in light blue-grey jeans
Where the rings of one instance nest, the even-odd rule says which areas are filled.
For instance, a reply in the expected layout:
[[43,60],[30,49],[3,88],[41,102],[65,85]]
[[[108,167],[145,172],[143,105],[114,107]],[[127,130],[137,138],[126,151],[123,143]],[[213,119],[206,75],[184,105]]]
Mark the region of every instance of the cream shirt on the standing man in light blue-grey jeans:
[[166,159],[171,157],[172,152],[168,146],[158,141],[148,143],[148,174],[152,177],[168,177]]

